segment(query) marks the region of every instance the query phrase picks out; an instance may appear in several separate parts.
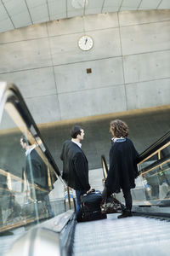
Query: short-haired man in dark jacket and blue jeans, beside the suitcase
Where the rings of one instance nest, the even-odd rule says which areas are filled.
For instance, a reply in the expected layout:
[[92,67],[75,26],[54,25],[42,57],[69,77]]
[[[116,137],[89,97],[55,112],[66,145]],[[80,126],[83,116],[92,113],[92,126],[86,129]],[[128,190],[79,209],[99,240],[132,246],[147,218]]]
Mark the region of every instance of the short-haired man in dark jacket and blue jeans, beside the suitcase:
[[88,182],[88,160],[82,151],[84,131],[80,125],[72,127],[71,137],[71,141],[65,141],[63,144],[60,159],[63,161],[63,179],[69,187],[76,190],[77,221],[80,221],[80,196],[89,193],[92,188]]

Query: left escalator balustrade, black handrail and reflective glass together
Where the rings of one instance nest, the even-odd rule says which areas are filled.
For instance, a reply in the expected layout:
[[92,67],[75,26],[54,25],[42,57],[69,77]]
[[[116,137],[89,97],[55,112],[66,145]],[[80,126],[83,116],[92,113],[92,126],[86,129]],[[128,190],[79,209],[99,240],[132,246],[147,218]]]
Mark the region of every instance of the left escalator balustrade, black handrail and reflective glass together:
[[[70,196],[65,201],[67,186],[20,91],[4,82],[0,83],[0,152],[0,237],[8,237],[8,248],[16,230],[26,232],[73,206]],[[7,249],[3,248],[0,240],[1,255]]]

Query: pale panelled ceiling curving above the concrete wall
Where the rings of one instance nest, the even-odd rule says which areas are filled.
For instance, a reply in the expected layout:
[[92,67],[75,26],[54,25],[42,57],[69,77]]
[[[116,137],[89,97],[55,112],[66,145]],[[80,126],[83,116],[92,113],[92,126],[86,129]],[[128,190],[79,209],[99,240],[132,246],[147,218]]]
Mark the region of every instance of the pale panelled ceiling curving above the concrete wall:
[[170,0],[0,0],[0,32],[107,12],[170,9]]

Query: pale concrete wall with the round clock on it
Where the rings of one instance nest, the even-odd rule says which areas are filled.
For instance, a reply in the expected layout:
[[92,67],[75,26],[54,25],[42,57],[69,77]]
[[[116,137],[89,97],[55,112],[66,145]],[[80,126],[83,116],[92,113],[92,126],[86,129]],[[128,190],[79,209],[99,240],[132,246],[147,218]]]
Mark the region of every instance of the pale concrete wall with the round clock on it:
[[[77,46],[83,34],[94,38],[87,52]],[[0,33],[0,58],[0,80],[18,85],[37,124],[167,105],[170,10],[89,15]]]

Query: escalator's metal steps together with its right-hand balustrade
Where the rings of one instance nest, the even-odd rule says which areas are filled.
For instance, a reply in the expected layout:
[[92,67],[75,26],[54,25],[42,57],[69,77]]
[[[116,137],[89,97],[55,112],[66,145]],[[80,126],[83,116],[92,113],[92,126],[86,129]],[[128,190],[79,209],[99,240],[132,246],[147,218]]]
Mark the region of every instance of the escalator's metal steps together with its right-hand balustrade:
[[[104,155],[101,160],[105,179]],[[120,213],[114,213],[93,224],[77,224],[74,256],[170,255],[170,131],[140,154],[138,166],[133,217],[117,219]],[[116,198],[124,203],[122,193]]]

